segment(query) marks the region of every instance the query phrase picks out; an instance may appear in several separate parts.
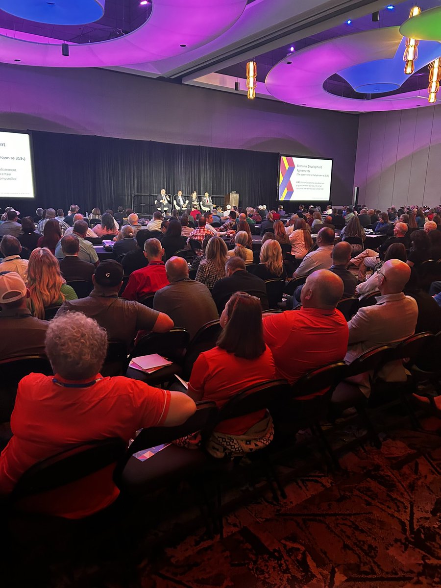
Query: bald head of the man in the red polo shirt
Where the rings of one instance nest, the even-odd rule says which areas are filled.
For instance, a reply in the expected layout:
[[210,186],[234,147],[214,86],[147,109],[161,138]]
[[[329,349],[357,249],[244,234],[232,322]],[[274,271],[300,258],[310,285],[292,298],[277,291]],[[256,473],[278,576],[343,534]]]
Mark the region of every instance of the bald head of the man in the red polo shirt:
[[302,288],[303,308],[331,310],[343,296],[343,280],[329,269],[319,269],[306,278]]

